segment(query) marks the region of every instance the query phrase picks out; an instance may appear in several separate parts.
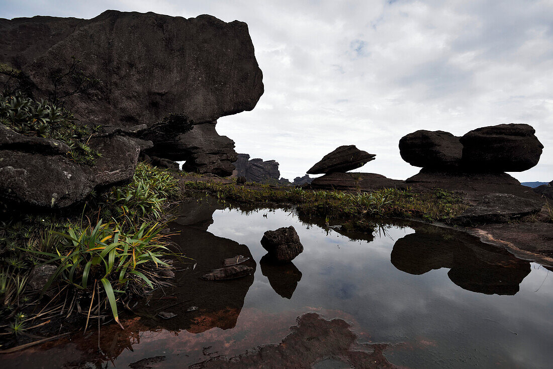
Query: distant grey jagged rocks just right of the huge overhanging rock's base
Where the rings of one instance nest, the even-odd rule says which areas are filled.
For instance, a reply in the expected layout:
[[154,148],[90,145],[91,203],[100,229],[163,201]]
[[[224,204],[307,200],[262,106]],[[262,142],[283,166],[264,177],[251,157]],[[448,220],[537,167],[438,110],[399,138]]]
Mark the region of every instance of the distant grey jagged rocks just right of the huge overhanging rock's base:
[[233,176],[246,177],[248,182],[276,184],[280,178],[279,163],[275,160],[249,159],[248,154],[238,154]]

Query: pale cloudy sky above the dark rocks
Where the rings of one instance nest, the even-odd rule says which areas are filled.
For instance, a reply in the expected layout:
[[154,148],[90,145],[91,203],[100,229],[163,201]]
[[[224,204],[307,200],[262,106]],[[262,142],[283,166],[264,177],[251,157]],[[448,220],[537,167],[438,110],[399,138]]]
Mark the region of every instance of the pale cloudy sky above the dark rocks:
[[265,93],[217,131],[293,179],[339,145],[377,154],[358,171],[404,179],[398,141],[528,123],[544,144],[520,181],[553,179],[551,0],[22,1],[0,18],[92,18],[106,9],[248,23]]

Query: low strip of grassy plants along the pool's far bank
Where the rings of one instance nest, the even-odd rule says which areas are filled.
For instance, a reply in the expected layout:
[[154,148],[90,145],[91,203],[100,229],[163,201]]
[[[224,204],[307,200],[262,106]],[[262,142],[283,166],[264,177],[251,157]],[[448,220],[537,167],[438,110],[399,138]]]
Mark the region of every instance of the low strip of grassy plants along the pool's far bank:
[[428,221],[447,221],[460,215],[468,207],[461,198],[444,190],[419,194],[394,188],[371,192],[283,189],[261,186],[223,185],[213,182],[187,181],[185,188],[209,191],[223,201],[246,204],[289,204],[296,206],[300,215],[332,217],[349,220],[354,217],[416,217]]

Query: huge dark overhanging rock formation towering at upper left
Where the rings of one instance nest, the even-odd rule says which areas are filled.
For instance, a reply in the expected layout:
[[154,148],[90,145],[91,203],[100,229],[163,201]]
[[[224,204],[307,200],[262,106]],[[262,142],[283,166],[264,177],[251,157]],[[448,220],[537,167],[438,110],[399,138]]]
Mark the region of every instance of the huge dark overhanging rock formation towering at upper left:
[[[252,110],[263,94],[246,23],[106,11],[93,19],[0,19],[0,32],[2,70],[22,71],[0,82],[17,74],[20,88],[62,98],[83,123],[146,124],[149,154],[231,174],[234,143],[218,136],[216,119]],[[186,119],[175,124],[164,119],[170,113]]]

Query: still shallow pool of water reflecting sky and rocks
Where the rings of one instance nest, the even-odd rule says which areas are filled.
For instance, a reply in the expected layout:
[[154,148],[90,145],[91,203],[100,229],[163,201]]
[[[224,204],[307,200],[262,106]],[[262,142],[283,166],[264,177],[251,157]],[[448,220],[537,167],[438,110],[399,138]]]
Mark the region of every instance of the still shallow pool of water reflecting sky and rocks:
[[[103,326],[100,354],[97,332],[87,332],[0,360],[34,368],[551,365],[553,276],[545,267],[425,225],[351,235],[291,211],[220,207],[184,207],[174,240],[194,262],[178,264],[177,285],[142,302],[124,331]],[[290,225],[304,252],[274,264],[260,240]],[[199,278],[237,254],[251,258],[253,276]],[[269,346],[254,350],[260,345]]]

